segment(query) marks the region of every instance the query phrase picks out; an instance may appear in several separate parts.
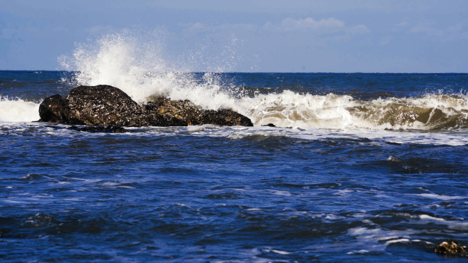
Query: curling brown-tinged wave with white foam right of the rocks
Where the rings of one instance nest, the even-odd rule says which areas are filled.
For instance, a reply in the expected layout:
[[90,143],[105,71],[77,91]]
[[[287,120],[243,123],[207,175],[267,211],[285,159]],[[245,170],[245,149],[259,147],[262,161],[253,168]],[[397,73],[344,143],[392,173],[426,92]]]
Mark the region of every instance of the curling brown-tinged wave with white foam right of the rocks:
[[[242,98],[240,109],[257,125],[302,128],[434,130],[467,128],[466,96],[426,94],[421,98],[356,100],[351,96],[285,91]],[[249,106],[250,105],[250,106]]]

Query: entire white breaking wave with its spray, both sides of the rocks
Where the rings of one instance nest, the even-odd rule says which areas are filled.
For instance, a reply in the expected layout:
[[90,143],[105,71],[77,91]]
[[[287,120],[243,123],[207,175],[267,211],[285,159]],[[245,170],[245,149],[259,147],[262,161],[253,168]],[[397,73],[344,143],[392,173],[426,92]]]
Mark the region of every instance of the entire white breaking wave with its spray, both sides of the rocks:
[[[441,130],[468,127],[466,94],[424,94],[417,98],[359,100],[348,95],[281,93],[252,94],[219,72],[192,73],[164,58],[157,32],[109,33],[79,44],[62,66],[73,71],[72,85],[113,85],[144,103],[152,96],[191,100],[206,109],[233,109],[261,126],[371,130]],[[179,61],[184,61],[179,58]],[[253,93],[255,94],[255,92]],[[38,104],[0,100],[2,122],[38,120]]]

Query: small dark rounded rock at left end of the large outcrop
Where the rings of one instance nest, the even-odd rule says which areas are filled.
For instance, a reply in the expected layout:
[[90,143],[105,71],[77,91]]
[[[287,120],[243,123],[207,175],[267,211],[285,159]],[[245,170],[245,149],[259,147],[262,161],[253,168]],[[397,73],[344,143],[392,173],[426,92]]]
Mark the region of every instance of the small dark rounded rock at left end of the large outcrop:
[[39,105],[40,122],[64,122],[70,112],[66,102],[59,94],[46,98]]

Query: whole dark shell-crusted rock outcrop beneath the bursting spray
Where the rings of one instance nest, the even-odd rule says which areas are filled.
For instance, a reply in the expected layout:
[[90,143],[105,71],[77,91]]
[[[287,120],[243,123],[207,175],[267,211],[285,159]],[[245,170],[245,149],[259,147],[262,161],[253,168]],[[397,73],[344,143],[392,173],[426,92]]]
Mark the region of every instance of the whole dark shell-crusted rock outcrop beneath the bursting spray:
[[139,105],[109,85],[75,87],[66,98],[50,96],[40,104],[39,115],[40,122],[90,126],[253,126],[248,117],[231,109],[207,110],[189,100],[155,97]]

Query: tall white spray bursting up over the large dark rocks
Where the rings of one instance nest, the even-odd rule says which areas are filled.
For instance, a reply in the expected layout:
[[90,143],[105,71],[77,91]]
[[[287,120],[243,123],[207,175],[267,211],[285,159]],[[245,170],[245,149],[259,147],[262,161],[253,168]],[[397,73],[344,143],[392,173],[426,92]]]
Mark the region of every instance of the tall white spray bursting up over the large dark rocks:
[[233,99],[220,91],[213,73],[200,81],[183,65],[169,64],[161,40],[133,31],[109,33],[99,40],[79,44],[73,57],[62,57],[66,70],[75,71],[75,85],[112,85],[143,103],[151,96],[191,100],[207,109],[232,107]]

